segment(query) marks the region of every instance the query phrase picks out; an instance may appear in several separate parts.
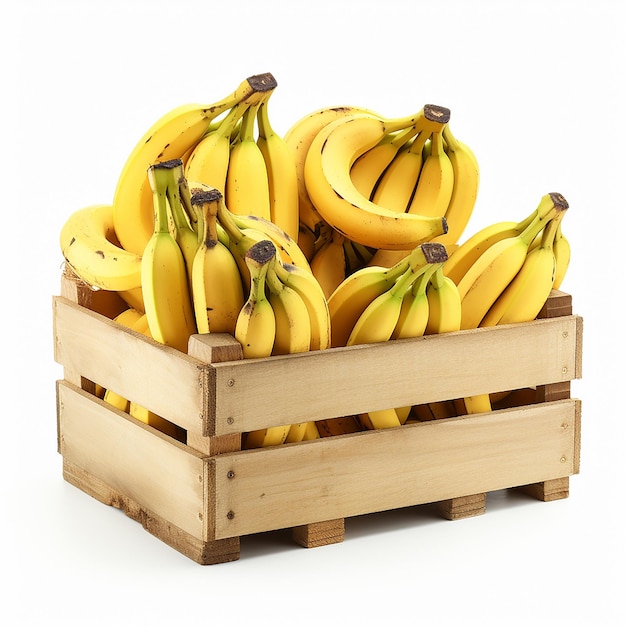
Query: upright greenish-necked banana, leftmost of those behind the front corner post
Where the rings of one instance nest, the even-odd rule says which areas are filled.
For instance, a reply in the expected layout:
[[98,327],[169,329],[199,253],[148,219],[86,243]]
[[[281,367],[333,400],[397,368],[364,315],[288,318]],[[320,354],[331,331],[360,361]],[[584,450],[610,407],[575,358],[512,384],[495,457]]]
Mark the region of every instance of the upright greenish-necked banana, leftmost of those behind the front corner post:
[[183,253],[169,227],[167,189],[176,182],[180,160],[165,161],[148,170],[153,190],[154,233],[141,261],[141,286],[152,337],[187,352],[197,332]]

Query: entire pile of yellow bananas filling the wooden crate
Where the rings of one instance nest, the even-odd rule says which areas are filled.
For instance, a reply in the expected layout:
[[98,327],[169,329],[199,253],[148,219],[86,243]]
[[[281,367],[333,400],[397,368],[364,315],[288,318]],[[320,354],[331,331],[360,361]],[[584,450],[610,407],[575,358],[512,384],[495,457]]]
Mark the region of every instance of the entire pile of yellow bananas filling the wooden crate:
[[[130,152],[112,202],[66,220],[67,267],[119,294],[118,323],[182,352],[193,334],[228,333],[244,358],[262,358],[537,316],[569,265],[563,196],[461,242],[479,168],[449,109],[387,118],[325,107],[282,137],[268,112],[276,85],[259,74],[213,104],[170,111]],[[103,397],[184,437],[113,390]],[[490,409],[489,396],[389,407],[245,433],[242,445]]]

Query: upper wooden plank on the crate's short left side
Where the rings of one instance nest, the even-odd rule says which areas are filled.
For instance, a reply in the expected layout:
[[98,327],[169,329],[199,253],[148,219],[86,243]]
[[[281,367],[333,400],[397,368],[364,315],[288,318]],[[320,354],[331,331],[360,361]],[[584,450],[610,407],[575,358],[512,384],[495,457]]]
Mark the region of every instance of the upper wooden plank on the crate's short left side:
[[204,433],[207,365],[61,297],[54,299],[54,332],[57,362]]

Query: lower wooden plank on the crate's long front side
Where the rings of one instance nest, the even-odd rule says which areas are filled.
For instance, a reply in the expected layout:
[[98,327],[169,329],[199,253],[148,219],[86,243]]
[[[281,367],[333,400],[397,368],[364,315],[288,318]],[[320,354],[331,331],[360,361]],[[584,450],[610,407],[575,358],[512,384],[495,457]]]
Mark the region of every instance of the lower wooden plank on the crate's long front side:
[[569,476],[576,400],[215,458],[216,537]]

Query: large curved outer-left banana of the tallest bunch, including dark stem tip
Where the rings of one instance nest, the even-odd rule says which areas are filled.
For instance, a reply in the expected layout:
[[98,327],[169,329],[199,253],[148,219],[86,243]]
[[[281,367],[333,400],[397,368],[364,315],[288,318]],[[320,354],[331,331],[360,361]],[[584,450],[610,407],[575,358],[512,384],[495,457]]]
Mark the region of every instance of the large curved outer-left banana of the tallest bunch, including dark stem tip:
[[181,158],[202,139],[215,118],[237,103],[258,99],[259,93],[275,87],[276,80],[269,73],[251,76],[218,102],[172,109],[144,133],[122,167],[113,196],[115,232],[124,249],[142,255],[154,231],[148,168],[160,161]]

